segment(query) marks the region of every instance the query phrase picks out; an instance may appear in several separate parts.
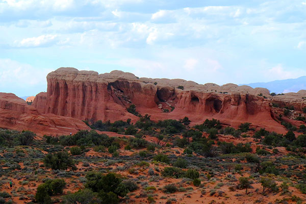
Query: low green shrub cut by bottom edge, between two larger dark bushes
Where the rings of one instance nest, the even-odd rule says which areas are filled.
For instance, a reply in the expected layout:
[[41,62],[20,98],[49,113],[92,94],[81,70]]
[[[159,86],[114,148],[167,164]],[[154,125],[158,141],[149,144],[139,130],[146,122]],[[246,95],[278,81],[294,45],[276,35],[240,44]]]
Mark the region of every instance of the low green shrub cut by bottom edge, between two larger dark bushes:
[[95,195],[89,189],[79,190],[75,193],[70,193],[68,195],[63,196],[63,203],[65,204],[74,204],[74,203],[82,203],[82,204],[90,204],[94,203]]

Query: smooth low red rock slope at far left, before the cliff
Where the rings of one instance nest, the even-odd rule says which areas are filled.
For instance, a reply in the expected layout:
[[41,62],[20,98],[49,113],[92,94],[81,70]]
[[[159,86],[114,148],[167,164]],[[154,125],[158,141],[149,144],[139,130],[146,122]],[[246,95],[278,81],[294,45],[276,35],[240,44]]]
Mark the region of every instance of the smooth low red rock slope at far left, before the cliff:
[[40,114],[12,93],[0,93],[0,128],[30,130],[40,135],[68,135],[89,129],[80,119]]

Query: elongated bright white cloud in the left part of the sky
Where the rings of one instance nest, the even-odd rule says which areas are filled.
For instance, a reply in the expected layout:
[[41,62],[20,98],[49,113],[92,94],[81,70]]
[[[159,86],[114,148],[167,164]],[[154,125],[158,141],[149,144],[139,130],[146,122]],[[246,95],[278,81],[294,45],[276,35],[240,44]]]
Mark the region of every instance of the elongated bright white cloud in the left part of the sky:
[[38,37],[24,38],[21,41],[15,41],[17,47],[40,47],[52,45],[58,42],[57,35],[41,35]]

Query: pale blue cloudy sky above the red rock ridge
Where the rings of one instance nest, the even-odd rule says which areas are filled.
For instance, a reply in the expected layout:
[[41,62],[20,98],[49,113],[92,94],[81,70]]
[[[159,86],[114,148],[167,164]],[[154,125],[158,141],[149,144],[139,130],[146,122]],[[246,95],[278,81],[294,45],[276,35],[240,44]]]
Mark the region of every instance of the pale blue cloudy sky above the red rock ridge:
[[306,1],[0,0],[0,92],[59,67],[199,84],[306,75]]

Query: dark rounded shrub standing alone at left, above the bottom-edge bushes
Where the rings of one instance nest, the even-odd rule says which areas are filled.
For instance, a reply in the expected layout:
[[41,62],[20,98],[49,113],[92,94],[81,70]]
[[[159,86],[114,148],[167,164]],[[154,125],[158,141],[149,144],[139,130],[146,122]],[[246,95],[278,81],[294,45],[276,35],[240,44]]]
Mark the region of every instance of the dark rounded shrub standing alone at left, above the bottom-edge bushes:
[[67,151],[59,151],[54,154],[48,154],[43,159],[46,168],[66,170],[68,168],[75,170],[74,162],[69,157]]

